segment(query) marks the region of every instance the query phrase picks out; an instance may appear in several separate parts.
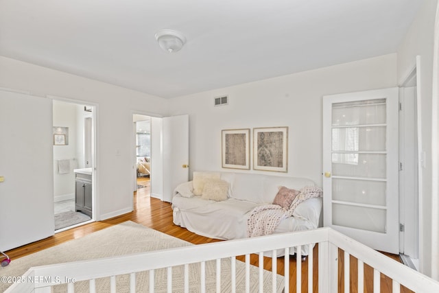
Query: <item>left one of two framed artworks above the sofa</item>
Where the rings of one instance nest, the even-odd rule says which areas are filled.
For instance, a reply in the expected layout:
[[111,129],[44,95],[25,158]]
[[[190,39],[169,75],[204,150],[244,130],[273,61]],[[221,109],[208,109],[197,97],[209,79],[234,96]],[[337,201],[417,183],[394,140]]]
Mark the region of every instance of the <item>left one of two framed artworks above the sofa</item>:
[[222,167],[250,169],[250,128],[222,130]]

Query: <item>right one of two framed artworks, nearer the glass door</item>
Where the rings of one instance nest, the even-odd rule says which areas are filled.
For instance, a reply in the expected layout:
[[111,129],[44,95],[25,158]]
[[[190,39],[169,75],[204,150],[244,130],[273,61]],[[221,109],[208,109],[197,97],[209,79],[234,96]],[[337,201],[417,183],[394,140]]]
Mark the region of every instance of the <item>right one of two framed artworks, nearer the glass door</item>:
[[253,128],[253,169],[287,172],[288,127]]

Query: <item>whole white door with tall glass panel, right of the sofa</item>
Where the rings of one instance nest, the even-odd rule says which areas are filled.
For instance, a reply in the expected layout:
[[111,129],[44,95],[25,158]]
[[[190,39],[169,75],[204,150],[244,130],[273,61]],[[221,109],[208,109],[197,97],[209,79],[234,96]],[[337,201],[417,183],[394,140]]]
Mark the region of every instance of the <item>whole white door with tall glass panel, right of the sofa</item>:
[[323,97],[324,226],[396,254],[398,91]]

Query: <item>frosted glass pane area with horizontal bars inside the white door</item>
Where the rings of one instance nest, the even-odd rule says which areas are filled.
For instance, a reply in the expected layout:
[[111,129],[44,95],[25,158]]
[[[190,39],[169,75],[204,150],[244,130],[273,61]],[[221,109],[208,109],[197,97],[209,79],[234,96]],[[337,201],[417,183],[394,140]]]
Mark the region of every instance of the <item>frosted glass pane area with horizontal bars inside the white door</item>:
[[385,99],[332,104],[333,224],[385,233],[385,107]]

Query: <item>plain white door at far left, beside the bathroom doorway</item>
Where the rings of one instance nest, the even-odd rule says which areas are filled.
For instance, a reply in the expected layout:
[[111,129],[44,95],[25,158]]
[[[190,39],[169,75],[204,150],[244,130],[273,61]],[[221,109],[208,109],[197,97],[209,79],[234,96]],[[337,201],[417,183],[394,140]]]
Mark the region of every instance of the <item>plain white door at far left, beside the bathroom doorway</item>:
[[0,250],[54,235],[52,100],[0,91]]

